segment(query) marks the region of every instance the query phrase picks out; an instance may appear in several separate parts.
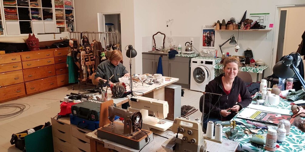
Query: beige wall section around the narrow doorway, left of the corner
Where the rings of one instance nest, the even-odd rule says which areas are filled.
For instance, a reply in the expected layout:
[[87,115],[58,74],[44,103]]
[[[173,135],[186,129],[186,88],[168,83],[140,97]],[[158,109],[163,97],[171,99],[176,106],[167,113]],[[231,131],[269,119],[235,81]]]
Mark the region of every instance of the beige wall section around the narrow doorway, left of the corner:
[[[120,12],[123,64],[129,71],[129,59],[125,56],[124,48],[129,44],[135,46],[134,0],[75,0],[74,7],[79,32],[97,32],[98,13]],[[135,71],[136,64],[138,63],[134,61],[132,71]]]

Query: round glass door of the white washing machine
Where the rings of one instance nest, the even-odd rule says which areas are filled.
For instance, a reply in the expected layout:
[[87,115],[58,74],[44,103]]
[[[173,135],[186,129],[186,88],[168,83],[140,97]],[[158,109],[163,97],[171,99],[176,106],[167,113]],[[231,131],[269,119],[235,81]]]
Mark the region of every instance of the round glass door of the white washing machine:
[[204,66],[198,66],[194,69],[193,71],[193,79],[196,81],[198,84],[206,83],[209,82],[210,79],[210,70],[208,70]]

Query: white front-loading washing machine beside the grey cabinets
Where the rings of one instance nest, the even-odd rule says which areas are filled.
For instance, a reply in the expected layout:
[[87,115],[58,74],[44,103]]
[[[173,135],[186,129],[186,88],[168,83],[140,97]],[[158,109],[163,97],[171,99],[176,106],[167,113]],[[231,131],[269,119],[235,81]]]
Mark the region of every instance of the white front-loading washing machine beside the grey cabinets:
[[194,57],[191,59],[191,90],[204,92],[206,85],[214,79],[214,59]]

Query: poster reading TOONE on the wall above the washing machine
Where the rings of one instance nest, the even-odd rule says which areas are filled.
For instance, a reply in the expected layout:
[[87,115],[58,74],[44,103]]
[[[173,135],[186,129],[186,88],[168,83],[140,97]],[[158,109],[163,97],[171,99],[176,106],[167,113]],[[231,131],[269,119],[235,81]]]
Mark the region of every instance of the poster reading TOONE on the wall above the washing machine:
[[213,25],[202,26],[202,49],[215,50],[215,28]]

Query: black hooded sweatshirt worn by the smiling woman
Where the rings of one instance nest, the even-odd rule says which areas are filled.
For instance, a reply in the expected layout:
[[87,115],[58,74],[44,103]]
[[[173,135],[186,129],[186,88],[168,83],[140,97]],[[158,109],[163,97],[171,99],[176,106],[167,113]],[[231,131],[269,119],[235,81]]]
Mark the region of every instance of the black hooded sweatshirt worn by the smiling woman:
[[[204,113],[208,114],[210,112],[209,117],[217,118],[222,121],[230,120],[231,118],[233,118],[234,112],[231,112],[231,114],[228,115],[227,117],[223,117],[220,114],[221,110],[232,108],[234,105],[240,105],[242,109],[244,107],[247,107],[252,102],[252,98],[246,87],[245,82],[242,81],[242,79],[239,78],[238,76],[235,77],[232,84],[231,92],[227,95],[222,87],[221,77],[223,75],[224,74],[221,74],[218,77],[216,77],[214,80],[210,81],[206,85],[206,89],[205,89],[205,92],[217,93],[217,94],[221,94],[222,96],[219,98],[219,95],[205,94],[205,102],[204,102]],[[241,96],[242,101],[236,104],[239,94]],[[219,102],[218,102],[218,98],[219,98]],[[202,105],[203,105],[203,95],[200,97],[200,101],[199,101],[200,112],[202,112]],[[241,109],[239,109],[239,111]]]

